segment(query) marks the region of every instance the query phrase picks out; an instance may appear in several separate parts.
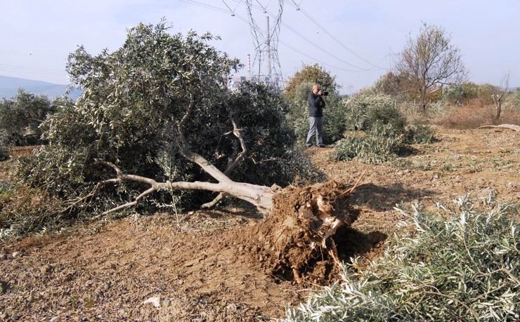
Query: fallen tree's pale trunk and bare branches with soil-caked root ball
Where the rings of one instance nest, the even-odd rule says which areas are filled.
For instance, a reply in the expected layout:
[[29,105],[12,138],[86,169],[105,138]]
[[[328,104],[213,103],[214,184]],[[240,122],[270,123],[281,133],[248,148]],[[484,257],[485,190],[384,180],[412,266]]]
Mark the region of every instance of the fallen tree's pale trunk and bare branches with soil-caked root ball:
[[85,198],[90,198],[105,185],[134,181],[149,185],[150,188],[134,201],[107,210],[101,215],[136,206],[148,194],[162,189],[207,190],[245,200],[256,206],[266,219],[241,229],[236,242],[247,246],[252,260],[267,274],[298,283],[329,281],[339,273],[342,260],[349,260],[358,253],[356,250],[347,250],[351,249],[347,240],[348,227],[356,217],[347,197],[358,187],[363,174],[350,189],[345,189],[337,182],[303,188],[270,188],[234,182],[210,163],[206,163],[202,156],[188,156],[202,165],[204,170],[209,169],[207,172],[219,177],[221,182],[157,182],[149,177],[122,173],[113,163],[98,161],[113,168],[117,177],[99,182],[94,191]]

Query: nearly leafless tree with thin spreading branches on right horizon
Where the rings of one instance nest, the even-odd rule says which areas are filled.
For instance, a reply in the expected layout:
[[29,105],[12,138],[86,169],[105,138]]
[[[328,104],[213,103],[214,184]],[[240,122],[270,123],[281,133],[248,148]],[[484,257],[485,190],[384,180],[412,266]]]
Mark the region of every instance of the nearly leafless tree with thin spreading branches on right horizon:
[[460,50],[451,44],[446,31],[424,24],[416,38],[410,35],[396,64],[398,74],[406,76],[427,114],[427,94],[434,86],[460,84],[467,71]]

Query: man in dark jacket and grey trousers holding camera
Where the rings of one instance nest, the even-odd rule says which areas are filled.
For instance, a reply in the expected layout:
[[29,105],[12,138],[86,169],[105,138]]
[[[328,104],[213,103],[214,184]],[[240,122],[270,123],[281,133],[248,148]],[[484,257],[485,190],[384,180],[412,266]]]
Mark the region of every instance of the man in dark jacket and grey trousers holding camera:
[[320,84],[314,84],[313,90],[308,94],[308,134],[306,145],[312,146],[313,136],[316,133],[316,145],[325,147],[323,144],[323,109],[325,108],[325,100],[323,96],[328,93],[320,89]]

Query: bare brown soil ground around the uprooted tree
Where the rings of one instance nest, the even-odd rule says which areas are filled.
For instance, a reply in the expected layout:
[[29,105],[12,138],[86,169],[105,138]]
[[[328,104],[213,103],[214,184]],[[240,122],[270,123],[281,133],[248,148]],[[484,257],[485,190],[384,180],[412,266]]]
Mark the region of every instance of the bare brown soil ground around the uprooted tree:
[[[420,202],[435,211],[437,201],[464,194],[477,202],[492,195],[520,203],[520,133],[438,128],[436,136],[439,142],[415,146],[401,168],[335,162],[332,149],[306,150],[335,182],[353,185],[366,170],[363,185],[349,196],[357,219],[338,244],[343,260],[382,252],[401,219],[396,203]],[[260,221],[251,208],[228,204],[0,241],[0,321],[278,318],[320,281],[284,281],[266,269],[263,250],[243,243]]]

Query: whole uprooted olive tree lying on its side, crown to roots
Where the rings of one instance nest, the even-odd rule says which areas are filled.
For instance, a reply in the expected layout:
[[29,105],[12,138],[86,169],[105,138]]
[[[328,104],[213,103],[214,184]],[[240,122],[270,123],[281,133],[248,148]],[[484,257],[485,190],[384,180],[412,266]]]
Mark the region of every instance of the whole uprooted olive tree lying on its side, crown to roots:
[[[228,90],[238,60],[212,47],[211,34],[168,30],[164,22],[141,24],[117,51],[90,55],[79,47],[70,54],[67,70],[82,96],[44,123],[49,145],[25,162],[28,182],[59,196],[62,213],[97,217],[154,205],[211,207],[227,197],[269,214],[280,194],[273,184],[320,180],[292,148],[280,95],[251,83]],[[278,250],[299,245],[307,262],[330,250],[332,261],[329,237],[348,222],[334,215],[334,200],[345,194],[306,191],[297,205],[278,201],[292,216],[291,224],[282,220],[291,233]]]

